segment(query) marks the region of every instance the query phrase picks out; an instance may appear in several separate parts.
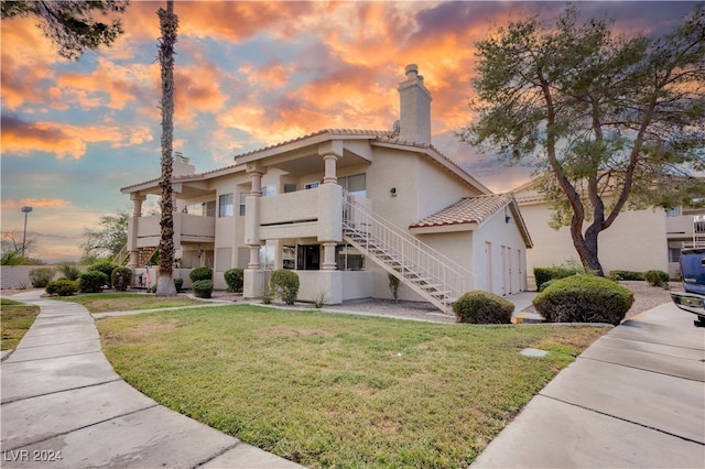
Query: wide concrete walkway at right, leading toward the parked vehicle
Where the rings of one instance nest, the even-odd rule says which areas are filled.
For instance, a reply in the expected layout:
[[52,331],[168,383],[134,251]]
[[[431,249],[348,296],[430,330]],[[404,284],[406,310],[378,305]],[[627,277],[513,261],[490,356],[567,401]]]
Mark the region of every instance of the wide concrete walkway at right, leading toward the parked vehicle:
[[704,468],[705,329],[664,304],[622,323],[549,383],[479,468]]

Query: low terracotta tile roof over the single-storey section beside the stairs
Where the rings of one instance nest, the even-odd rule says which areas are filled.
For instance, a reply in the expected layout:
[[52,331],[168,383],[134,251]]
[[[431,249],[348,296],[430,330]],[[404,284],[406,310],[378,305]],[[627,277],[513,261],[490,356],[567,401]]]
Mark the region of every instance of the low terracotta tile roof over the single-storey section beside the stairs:
[[463,197],[460,200],[416,221],[409,228],[441,227],[448,225],[481,223],[492,214],[512,201],[511,194],[490,194]]

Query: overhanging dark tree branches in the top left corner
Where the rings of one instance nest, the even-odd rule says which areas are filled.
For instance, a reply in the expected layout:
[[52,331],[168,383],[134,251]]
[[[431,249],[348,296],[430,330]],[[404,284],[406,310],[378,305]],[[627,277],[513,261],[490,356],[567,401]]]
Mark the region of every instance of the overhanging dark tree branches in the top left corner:
[[2,19],[35,17],[37,26],[58,47],[58,54],[72,61],[86,50],[96,51],[100,45],[111,45],[123,33],[122,24],[115,17],[122,13],[129,0],[72,0],[72,1],[2,1]]

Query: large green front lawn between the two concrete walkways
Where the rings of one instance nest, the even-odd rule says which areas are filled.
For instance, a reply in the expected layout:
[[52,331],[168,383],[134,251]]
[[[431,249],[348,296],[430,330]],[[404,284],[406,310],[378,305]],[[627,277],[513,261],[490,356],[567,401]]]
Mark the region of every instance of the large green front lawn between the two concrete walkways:
[[[469,326],[250,305],[97,321],[158,402],[312,468],[467,467],[607,329]],[[519,351],[535,347],[545,358]]]

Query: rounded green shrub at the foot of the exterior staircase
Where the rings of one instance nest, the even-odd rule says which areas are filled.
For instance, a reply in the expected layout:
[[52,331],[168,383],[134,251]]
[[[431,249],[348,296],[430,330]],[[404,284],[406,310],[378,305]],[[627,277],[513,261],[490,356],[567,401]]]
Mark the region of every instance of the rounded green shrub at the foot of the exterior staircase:
[[453,304],[458,323],[510,324],[514,304],[490,292],[467,292]]

